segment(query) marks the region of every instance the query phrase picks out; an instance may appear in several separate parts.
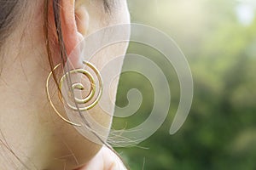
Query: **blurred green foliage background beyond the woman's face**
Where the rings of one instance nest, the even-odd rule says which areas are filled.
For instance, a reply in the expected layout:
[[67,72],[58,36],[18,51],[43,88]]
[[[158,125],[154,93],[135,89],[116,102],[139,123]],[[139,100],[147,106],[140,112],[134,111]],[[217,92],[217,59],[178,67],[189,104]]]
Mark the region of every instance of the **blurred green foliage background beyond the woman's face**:
[[[189,61],[195,85],[188,119],[170,135],[179,83],[172,66],[167,70],[172,105],[166,122],[143,143],[117,149],[131,170],[256,169],[256,1],[128,3],[132,22],[154,26],[177,42]],[[161,65],[160,54],[151,48],[131,43],[129,52],[154,56]],[[114,129],[137,126],[152,109],[150,82],[135,73],[121,76],[117,105],[127,105],[131,88],[141,91],[143,104],[133,116],[115,118]]]

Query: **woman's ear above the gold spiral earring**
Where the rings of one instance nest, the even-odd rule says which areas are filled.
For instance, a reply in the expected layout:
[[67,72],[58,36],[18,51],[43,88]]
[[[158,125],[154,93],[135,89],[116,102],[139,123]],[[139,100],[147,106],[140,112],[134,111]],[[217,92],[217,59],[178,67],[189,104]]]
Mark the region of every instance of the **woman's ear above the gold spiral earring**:
[[[63,41],[69,55],[78,43],[83,40],[89,26],[89,14],[83,3],[75,0],[61,1],[61,30]],[[73,58],[73,59],[70,59]],[[74,59],[77,57],[78,59]],[[69,56],[73,62],[79,60],[79,55]]]

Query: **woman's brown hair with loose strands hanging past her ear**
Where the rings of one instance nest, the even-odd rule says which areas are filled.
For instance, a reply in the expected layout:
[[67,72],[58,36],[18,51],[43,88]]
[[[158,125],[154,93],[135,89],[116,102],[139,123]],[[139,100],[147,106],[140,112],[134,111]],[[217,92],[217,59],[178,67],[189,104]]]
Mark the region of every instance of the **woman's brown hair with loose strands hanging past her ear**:
[[[12,33],[12,31],[15,29],[16,26],[16,20],[18,20],[19,16],[21,15],[21,11],[24,10],[24,7],[26,7],[26,0],[19,1],[19,0],[0,0],[0,49],[2,48],[5,40],[9,35]],[[52,29],[52,26],[49,26],[49,8],[53,9],[53,18],[55,22],[54,26],[54,35],[57,36],[57,41],[55,42],[56,46],[59,48],[59,60],[61,60],[61,65],[64,65],[67,61],[67,50],[65,47],[65,43],[63,41],[63,35],[61,30],[61,17],[60,17],[60,4],[61,0],[44,0],[44,40],[45,40],[45,47],[48,54],[49,59],[49,66],[50,71],[53,73],[53,77],[55,80],[55,83],[58,84],[56,73],[54,71],[54,62],[52,58],[52,51],[51,51],[51,42],[53,42],[50,39],[49,36],[49,30]],[[102,3],[104,5],[104,9],[106,13],[111,13],[111,7],[113,0],[102,0]],[[59,87],[59,86],[57,86]],[[61,90],[58,89],[60,92]],[[81,118],[83,119],[84,123],[87,124],[86,120],[84,119],[84,116],[80,114]],[[0,129],[0,133],[1,129]],[[92,133],[94,133],[92,131]],[[94,133],[95,136],[102,141],[102,144],[107,145],[107,147],[110,150],[113,150],[107,143],[105,143],[96,133]],[[9,152],[15,156],[15,158],[20,161],[20,163],[26,167],[26,164],[22,162],[19,157],[15,155],[15,152],[9,148],[9,145],[4,143],[2,139],[0,139],[0,143],[3,144],[3,146],[9,150]],[[114,150],[113,152],[119,156]],[[119,157],[120,158],[120,157]],[[29,169],[28,167],[26,167]]]

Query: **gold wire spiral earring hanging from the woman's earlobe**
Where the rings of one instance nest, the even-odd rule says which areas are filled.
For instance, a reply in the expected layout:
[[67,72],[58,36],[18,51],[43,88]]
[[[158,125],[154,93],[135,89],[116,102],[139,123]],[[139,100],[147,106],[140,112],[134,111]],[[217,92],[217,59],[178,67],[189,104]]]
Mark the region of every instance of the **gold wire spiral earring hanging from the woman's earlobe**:
[[[85,105],[85,104],[88,104],[90,102],[89,105],[86,105],[84,107],[77,107],[76,105],[74,106],[74,105],[69,104],[67,101],[65,101],[63,99],[61,92],[59,92],[59,99],[61,100],[61,103],[64,104],[64,105],[66,104],[68,106],[68,108],[73,110],[73,111],[88,111],[88,110],[92,109],[99,102],[99,100],[102,96],[102,77],[101,77],[100,72],[96,69],[96,66],[92,65],[88,61],[83,61],[83,64],[87,65],[92,71],[94,71],[94,73],[96,75],[96,78],[97,78],[97,81],[98,81],[99,90],[96,94],[96,80],[90,74],[89,71],[84,70],[84,69],[75,69],[75,70],[72,70],[72,71],[69,71],[69,72],[65,73],[59,81],[59,89],[62,89],[63,82],[67,79],[67,77],[72,75],[72,74],[75,74],[75,73],[83,74],[90,81],[90,92],[84,99],[78,99],[76,97],[73,97],[74,102],[77,105]],[[57,109],[55,108],[55,105],[52,102],[52,99],[49,96],[49,78],[52,76],[53,71],[55,71],[60,65],[61,64],[56,65],[55,68],[52,71],[49,72],[49,76],[47,77],[47,80],[46,80],[47,98],[49,100],[49,104],[54,109],[55,113],[58,116],[60,116],[63,121],[65,121],[65,122],[67,122],[67,123],[69,123],[73,126],[80,127],[81,126],[80,124],[75,123],[75,122],[71,122],[71,121],[67,120],[65,117],[61,116],[61,113],[59,111],[57,111]],[[71,90],[74,90],[74,89],[84,90],[84,85],[82,83],[79,83],[79,82],[74,82],[74,83],[71,84]],[[92,100],[92,99],[94,99],[94,100]]]

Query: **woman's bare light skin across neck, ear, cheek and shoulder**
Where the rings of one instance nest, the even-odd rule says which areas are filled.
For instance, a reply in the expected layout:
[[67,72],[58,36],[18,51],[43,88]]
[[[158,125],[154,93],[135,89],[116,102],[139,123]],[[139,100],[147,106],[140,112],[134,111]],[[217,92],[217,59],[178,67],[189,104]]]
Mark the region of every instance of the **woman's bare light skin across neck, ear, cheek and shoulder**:
[[[44,1],[30,1],[0,52],[3,59],[0,77],[0,139],[9,144],[9,149],[31,169],[125,168],[120,167],[121,161],[111,150],[84,138],[73,126],[56,116],[50,107],[45,94],[49,61],[44,44],[43,9]],[[72,52],[82,37],[105,26],[129,23],[126,1],[119,0],[110,15],[103,12],[102,1],[62,0],[61,27],[67,54]],[[52,37],[51,41],[56,40]],[[96,54],[94,59],[97,62],[94,64],[101,69],[110,59],[125,54],[126,48],[127,43],[108,47]],[[54,60],[55,64],[59,62],[58,59]],[[73,65],[77,65],[81,59],[70,56],[70,60]],[[121,65],[116,65],[119,71]],[[109,92],[112,101],[106,101],[111,111],[117,84],[118,79],[113,82],[112,91]],[[52,92],[56,92],[53,83],[51,87]],[[54,103],[61,109],[60,100],[54,98]],[[102,126],[110,128],[112,115],[106,114],[98,105],[90,111],[90,115]],[[108,132],[103,135],[107,139]],[[22,167],[9,150],[2,145],[1,148],[0,169]]]

